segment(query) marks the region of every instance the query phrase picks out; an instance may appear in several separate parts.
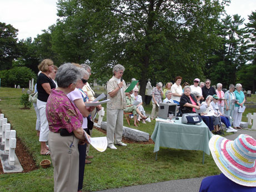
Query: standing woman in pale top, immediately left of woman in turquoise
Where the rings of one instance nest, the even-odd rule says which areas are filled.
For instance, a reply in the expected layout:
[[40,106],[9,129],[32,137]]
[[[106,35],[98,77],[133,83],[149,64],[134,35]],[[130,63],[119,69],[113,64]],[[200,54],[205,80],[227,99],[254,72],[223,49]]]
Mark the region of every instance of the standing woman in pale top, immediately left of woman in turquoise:
[[[225,115],[228,115],[233,118],[233,111],[234,111],[234,103],[231,102],[232,99],[235,99],[234,94],[235,85],[230,84],[229,90],[225,92],[224,98],[226,100],[225,106],[224,106],[224,113]],[[232,124],[232,119],[229,119],[230,124]]]

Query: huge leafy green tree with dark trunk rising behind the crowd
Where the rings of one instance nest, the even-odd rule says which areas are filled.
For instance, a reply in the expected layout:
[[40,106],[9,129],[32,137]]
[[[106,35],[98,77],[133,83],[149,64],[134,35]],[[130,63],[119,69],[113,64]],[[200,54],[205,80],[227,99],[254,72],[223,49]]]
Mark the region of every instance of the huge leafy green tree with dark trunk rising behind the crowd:
[[[153,82],[167,82],[173,81],[176,75],[188,80],[203,76],[207,53],[218,47],[214,29],[227,2],[59,1],[61,18],[57,27],[62,37],[58,42],[64,39],[63,44],[67,46],[71,41],[76,50],[69,52],[80,50],[81,53],[79,43],[84,45],[84,40],[89,39],[87,58],[92,54],[89,60],[93,70],[99,75],[111,76],[113,65],[123,64],[126,67],[124,79],[139,79],[140,94],[144,98],[148,78]],[[71,36],[75,33],[78,35]],[[65,46],[57,47],[68,55]]]

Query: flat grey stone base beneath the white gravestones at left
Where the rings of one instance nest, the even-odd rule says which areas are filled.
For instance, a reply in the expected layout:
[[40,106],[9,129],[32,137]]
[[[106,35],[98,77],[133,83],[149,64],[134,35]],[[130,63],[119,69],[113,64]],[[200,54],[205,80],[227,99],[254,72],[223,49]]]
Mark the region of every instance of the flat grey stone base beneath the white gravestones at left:
[[3,173],[21,173],[23,168],[21,163],[15,154],[14,165],[9,165],[8,163],[8,154],[4,153],[4,145],[0,145],[0,160],[3,167]]

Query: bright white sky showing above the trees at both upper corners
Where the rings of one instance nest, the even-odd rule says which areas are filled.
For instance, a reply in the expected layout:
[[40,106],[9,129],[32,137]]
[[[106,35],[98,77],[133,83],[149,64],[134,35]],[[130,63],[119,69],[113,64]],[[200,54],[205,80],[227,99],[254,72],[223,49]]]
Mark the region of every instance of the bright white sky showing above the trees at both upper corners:
[[[57,0],[0,0],[0,22],[18,29],[18,39],[35,38],[43,29],[57,21]],[[248,15],[256,11],[255,0],[231,0],[226,7],[228,14],[239,14],[248,21]]]

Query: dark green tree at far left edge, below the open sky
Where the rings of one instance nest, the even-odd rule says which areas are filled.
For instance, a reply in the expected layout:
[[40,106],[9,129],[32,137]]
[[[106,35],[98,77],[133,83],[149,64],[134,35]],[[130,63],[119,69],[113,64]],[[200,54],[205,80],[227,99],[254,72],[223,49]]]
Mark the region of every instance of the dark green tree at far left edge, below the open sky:
[[0,70],[11,69],[12,60],[19,56],[18,29],[0,22]]

